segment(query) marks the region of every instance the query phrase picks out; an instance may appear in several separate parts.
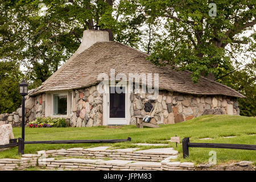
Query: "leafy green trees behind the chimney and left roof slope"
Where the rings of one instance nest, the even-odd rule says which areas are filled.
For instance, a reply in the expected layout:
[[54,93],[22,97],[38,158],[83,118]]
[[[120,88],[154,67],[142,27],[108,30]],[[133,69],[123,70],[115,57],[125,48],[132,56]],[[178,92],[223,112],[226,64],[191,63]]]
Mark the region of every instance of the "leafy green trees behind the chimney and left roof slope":
[[3,26],[0,59],[18,57],[39,86],[76,51],[84,30],[106,30],[110,40],[136,47],[144,16],[133,14],[130,5],[114,0],[1,1],[2,24],[11,26]]

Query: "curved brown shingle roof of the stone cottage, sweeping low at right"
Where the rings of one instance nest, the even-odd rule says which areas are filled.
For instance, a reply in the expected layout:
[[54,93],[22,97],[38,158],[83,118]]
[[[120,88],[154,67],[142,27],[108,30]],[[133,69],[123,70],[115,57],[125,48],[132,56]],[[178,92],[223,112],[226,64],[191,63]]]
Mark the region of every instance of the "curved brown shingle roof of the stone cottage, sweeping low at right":
[[[85,49],[75,59],[65,63],[59,71],[30,95],[55,90],[79,89],[94,85],[100,73],[159,73],[159,89],[175,92],[244,97],[236,90],[202,77],[197,84],[191,80],[190,72],[158,67],[146,60],[148,55],[118,42],[97,42]],[[110,78],[110,76],[109,76]]]

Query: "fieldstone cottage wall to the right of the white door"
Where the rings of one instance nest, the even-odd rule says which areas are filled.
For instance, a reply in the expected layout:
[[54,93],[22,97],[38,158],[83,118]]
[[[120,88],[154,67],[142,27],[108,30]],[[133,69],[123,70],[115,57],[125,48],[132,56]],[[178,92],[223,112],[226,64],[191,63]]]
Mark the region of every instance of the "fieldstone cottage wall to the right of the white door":
[[148,115],[152,107],[152,123],[172,124],[199,117],[205,114],[239,115],[237,99],[226,96],[196,96],[159,90],[159,96],[152,100],[151,94],[131,94],[131,122],[135,124],[136,115]]

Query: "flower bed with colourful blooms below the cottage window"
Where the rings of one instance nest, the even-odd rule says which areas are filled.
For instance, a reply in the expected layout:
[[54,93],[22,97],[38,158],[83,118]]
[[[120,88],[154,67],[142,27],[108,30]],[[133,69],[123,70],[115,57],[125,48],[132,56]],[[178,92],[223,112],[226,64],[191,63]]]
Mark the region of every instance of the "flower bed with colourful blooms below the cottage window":
[[29,127],[67,127],[64,118],[54,118],[51,117],[41,118],[38,117],[35,121],[28,123]]

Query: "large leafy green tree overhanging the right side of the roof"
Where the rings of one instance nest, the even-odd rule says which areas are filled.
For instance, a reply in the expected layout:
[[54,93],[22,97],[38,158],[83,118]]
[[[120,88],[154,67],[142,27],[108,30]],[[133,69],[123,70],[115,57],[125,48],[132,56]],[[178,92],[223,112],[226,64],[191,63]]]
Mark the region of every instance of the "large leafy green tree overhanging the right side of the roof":
[[[255,1],[148,1],[140,0],[144,11],[154,23],[164,19],[165,31],[154,45],[150,56],[157,65],[170,64],[181,70],[192,71],[192,80],[200,75],[214,79],[223,68],[232,68],[233,50],[241,53],[243,44],[252,42],[255,20]],[[214,5],[217,13],[214,15]],[[229,49],[230,47],[230,49]]]

